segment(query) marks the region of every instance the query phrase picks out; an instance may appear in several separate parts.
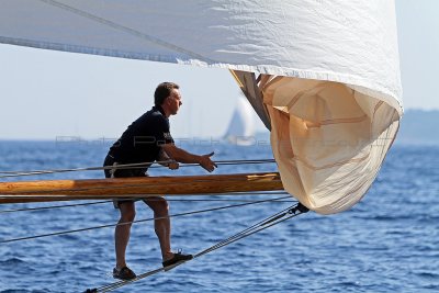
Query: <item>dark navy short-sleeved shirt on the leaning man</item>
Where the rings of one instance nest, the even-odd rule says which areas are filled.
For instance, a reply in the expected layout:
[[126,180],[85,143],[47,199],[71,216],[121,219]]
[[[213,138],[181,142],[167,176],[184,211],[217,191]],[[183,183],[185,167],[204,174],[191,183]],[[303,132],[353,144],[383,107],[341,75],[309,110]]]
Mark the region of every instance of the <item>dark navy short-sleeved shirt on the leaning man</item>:
[[158,159],[160,145],[170,143],[169,120],[161,106],[153,106],[128,126],[109,154],[119,164],[153,162]]

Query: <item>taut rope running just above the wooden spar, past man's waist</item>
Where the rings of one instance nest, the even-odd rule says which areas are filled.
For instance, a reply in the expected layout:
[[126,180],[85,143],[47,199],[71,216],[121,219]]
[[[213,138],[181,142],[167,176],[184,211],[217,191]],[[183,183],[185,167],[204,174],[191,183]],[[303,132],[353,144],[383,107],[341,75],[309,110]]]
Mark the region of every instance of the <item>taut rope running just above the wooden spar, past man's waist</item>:
[[[156,161],[157,164],[169,164],[171,160]],[[219,160],[215,161],[216,165],[252,165],[252,164],[271,164],[275,162],[274,159],[255,159],[255,160]],[[124,164],[116,166],[104,166],[104,167],[86,167],[86,168],[68,168],[68,169],[52,169],[52,170],[31,170],[31,171],[0,171],[0,178],[9,177],[22,177],[22,176],[35,176],[35,174],[49,174],[49,173],[61,173],[61,172],[77,172],[77,171],[97,171],[97,170],[110,170],[110,169],[140,169],[140,168],[167,168],[165,166],[151,166],[154,162],[137,162],[137,164]],[[194,167],[198,164],[181,164],[180,167]]]

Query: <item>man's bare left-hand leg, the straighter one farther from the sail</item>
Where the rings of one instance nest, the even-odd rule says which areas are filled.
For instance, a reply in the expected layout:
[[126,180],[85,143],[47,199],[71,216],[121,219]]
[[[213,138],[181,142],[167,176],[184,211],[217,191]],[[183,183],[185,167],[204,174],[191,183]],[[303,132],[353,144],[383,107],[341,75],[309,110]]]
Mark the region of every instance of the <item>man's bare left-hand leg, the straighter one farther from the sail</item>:
[[[117,224],[133,222],[136,215],[134,202],[123,202],[119,204],[121,211],[121,218]],[[114,230],[114,244],[116,251],[116,268],[122,269],[126,267],[125,251],[130,241],[130,232],[132,224],[117,225]]]

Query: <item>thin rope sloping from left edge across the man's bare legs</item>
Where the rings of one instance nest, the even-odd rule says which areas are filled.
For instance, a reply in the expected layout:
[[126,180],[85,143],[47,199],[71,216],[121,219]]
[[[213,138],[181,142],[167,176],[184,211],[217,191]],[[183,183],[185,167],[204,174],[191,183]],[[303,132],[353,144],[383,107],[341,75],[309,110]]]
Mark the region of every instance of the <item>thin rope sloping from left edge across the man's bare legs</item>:
[[100,229],[100,228],[115,227],[115,226],[120,226],[120,225],[131,225],[131,224],[134,224],[134,223],[150,222],[150,221],[154,221],[154,219],[161,219],[161,218],[167,218],[167,217],[171,218],[171,217],[178,217],[178,216],[194,215],[194,214],[207,213],[207,212],[213,212],[213,211],[219,211],[219,210],[226,210],[226,209],[233,209],[233,207],[240,207],[240,206],[246,206],[246,205],[259,204],[259,203],[264,203],[264,202],[284,200],[284,199],[288,199],[288,198],[290,198],[290,196],[282,196],[282,198],[278,198],[278,199],[260,200],[260,201],[255,201],[255,202],[249,202],[249,203],[240,203],[240,204],[232,204],[232,205],[225,205],[225,206],[218,206],[218,207],[211,207],[211,209],[205,209],[205,210],[179,213],[179,214],[169,215],[169,216],[165,216],[165,217],[144,218],[144,219],[137,219],[137,221],[133,221],[133,222],[108,224],[108,225],[101,225],[101,226],[94,226],[94,227],[88,227],[88,228],[63,230],[63,232],[55,232],[55,233],[48,233],[48,234],[34,235],[34,236],[11,238],[11,239],[0,240],[0,244],[15,243],[15,241],[22,241],[22,240],[31,240],[31,239],[36,239],[36,238],[49,237],[49,236],[59,236],[59,235],[78,233],[78,232],[86,232],[86,230],[93,230],[93,229]]

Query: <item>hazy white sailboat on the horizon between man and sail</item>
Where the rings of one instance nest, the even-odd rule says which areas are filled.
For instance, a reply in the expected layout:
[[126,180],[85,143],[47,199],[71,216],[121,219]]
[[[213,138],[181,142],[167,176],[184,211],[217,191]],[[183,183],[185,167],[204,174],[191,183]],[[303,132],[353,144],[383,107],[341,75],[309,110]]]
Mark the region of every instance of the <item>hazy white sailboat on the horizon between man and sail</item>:
[[255,144],[255,110],[243,95],[239,97],[224,138],[235,145]]

